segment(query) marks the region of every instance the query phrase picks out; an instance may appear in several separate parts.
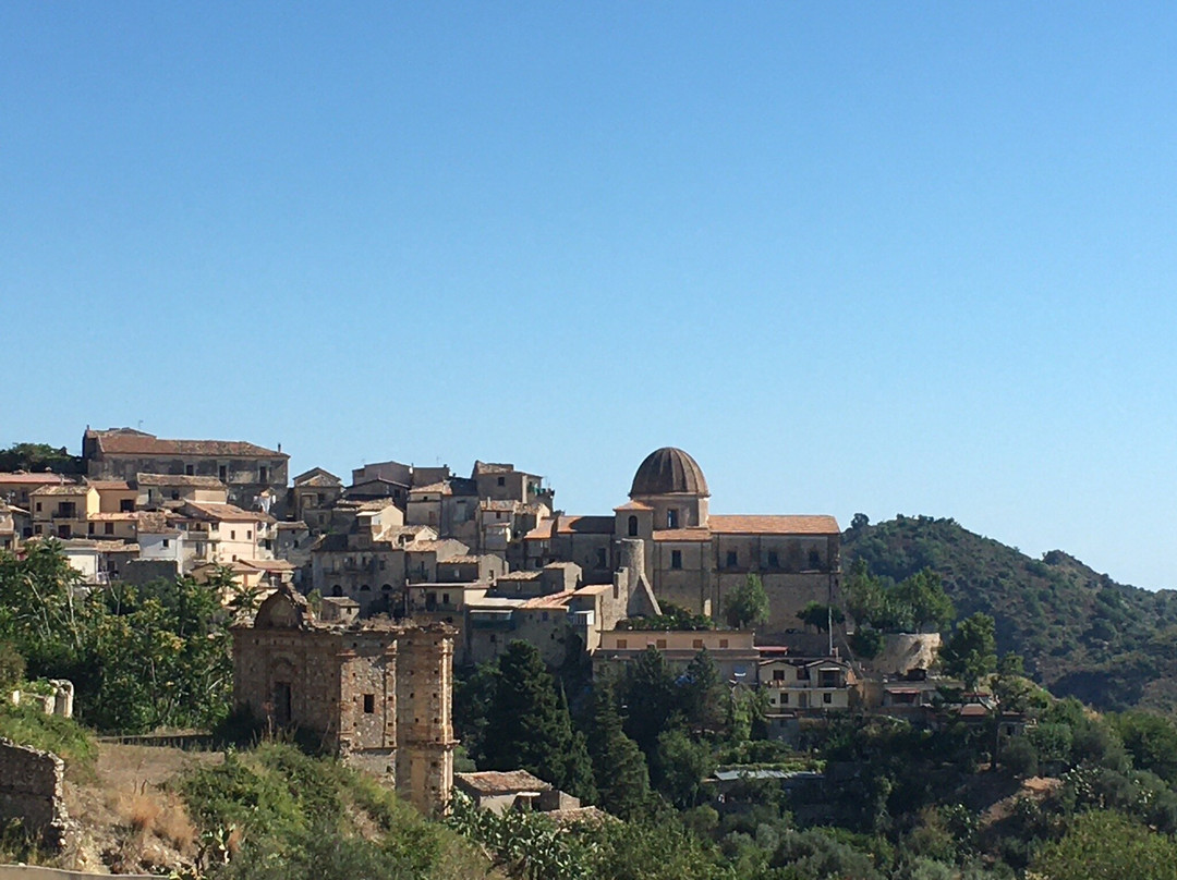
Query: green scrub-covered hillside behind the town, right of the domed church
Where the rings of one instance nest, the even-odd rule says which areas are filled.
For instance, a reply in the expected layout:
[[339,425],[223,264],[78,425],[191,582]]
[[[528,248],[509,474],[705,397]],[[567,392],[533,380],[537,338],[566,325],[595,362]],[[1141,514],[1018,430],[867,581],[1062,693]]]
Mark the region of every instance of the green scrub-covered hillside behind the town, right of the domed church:
[[1099,708],[1177,711],[1177,593],[1117,584],[1062,551],[1032,559],[951,519],[897,516],[843,533],[843,569],[863,559],[902,580],[940,574],[958,618],[997,622],[1000,652],[1059,695]]

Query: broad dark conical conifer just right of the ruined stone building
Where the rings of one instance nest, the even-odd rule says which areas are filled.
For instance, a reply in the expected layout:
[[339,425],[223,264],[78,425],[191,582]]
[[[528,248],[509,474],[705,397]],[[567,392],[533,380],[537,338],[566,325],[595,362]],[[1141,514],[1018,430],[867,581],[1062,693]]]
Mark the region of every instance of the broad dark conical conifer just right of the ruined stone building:
[[521,767],[570,794],[593,798],[584,735],[572,729],[563,692],[527,642],[513,641],[499,656],[483,752],[488,769]]

